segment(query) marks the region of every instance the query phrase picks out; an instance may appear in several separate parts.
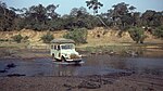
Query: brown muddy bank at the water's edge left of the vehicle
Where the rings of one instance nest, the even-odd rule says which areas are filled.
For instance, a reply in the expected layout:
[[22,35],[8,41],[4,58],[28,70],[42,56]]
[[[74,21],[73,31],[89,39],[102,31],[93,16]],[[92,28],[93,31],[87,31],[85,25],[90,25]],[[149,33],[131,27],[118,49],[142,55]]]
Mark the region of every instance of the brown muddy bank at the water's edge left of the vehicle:
[[[23,61],[30,61],[39,57],[51,57],[50,52],[47,49],[42,50],[30,50],[20,48],[0,48],[0,58],[21,58]],[[20,61],[21,61],[20,60]]]

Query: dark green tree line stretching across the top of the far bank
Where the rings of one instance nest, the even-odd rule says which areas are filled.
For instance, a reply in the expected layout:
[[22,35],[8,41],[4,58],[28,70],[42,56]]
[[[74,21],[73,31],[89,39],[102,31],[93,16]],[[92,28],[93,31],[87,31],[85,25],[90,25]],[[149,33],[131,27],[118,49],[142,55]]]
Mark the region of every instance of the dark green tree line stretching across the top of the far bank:
[[110,27],[126,30],[129,27],[156,27],[163,26],[163,11],[147,10],[143,13],[135,11],[136,8],[125,2],[114,4],[105,13],[98,14],[103,6],[98,0],[86,1],[87,12],[84,6],[73,8],[70,14],[60,15],[55,12],[59,4],[32,5],[29,8],[8,8],[0,1],[0,31],[21,30],[23,28],[34,30],[62,30],[72,28]]

